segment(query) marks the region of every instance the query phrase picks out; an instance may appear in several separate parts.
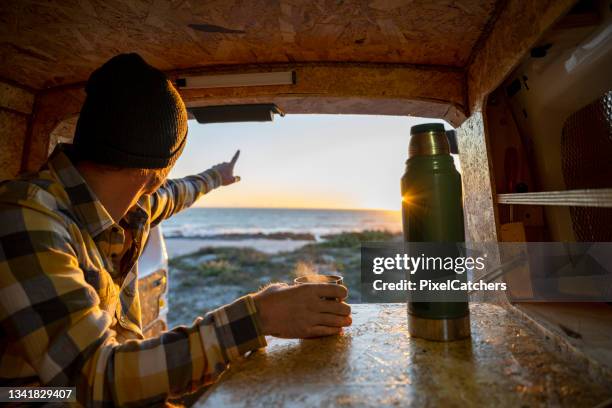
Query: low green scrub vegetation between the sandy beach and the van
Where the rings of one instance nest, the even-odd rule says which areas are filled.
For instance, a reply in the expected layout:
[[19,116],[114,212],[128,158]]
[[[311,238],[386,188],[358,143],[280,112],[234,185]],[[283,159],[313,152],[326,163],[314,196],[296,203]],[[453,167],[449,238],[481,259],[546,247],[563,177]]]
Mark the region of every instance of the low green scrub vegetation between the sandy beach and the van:
[[398,240],[387,231],[325,235],[294,251],[268,254],[253,248],[204,247],[170,260],[170,326],[189,324],[198,315],[271,282],[292,283],[309,273],[340,274],[351,303],[360,301],[360,245]]

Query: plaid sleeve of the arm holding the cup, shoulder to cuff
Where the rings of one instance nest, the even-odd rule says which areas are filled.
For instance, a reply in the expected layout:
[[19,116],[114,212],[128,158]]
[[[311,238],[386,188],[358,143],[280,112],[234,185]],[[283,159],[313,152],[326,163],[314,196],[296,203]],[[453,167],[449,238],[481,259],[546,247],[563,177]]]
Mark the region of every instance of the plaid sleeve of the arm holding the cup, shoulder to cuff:
[[[112,314],[99,307],[103,294],[79,266],[76,227],[42,206],[6,203],[0,223],[0,331],[17,353],[0,354],[3,385],[30,377],[76,386],[82,405],[153,404],[214,381],[233,359],[266,345],[250,296],[190,327],[119,344]],[[26,363],[9,367],[17,360]]]

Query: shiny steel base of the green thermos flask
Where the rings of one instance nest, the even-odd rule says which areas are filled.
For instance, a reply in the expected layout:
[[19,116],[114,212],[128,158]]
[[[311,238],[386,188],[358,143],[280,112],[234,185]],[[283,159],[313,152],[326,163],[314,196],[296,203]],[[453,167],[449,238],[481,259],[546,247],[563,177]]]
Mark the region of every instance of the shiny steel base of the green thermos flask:
[[455,319],[426,319],[408,313],[411,337],[433,341],[453,341],[470,337],[470,315]]

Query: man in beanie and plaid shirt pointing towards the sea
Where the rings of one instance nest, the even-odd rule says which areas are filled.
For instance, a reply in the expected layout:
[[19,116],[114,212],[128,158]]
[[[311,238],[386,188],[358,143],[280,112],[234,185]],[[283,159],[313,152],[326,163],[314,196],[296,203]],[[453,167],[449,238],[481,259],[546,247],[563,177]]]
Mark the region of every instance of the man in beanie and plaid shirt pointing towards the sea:
[[76,386],[81,405],[150,405],[210,383],[265,335],[337,334],[337,285],[273,285],[143,339],[136,261],[149,229],[237,180],[230,163],[167,180],[185,106],[138,55],[89,78],[74,143],[0,184],[0,382]]

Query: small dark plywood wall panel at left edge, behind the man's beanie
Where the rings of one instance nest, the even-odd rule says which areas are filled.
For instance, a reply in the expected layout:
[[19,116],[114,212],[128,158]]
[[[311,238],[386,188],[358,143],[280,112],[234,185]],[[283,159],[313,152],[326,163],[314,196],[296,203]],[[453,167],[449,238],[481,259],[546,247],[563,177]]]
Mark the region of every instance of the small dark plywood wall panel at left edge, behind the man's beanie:
[[33,104],[32,92],[0,82],[0,180],[19,173]]

